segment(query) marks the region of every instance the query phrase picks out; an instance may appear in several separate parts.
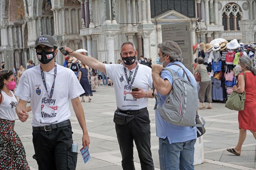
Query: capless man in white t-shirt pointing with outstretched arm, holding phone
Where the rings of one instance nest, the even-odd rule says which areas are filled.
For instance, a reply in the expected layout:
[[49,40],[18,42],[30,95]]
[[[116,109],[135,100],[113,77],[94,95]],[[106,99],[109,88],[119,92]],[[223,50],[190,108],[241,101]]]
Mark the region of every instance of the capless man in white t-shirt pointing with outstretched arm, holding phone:
[[[106,73],[114,83],[117,110],[114,115],[115,130],[122,154],[122,168],[135,170],[133,141],[139,153],[142,170],[153,170],[150,144],[148,98],[153,98],[151,68],[136,60],[138,52],[133,43],[122,44],[120,56],[123,64],[103,64],[93,57],[65,50],[91,68]],[[132,91],[133,90],[133,91]],[[135,91],[134,91],[135,90]]]

